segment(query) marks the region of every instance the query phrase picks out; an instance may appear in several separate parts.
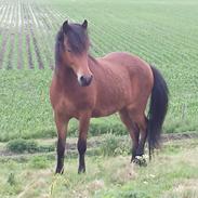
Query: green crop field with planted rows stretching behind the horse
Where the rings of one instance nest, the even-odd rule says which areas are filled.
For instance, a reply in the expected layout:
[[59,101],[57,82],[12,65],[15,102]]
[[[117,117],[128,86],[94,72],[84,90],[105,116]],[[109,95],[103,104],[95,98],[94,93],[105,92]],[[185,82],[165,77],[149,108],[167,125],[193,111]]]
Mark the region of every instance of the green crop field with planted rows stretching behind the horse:
[[[49,2],[28,0],[23,3],[24,6],[29,3],[32,8],[36,4],[50,9],[54,14],[47,16],[56,27],[61,26],[66,18],[75,22],[82,22],[87,18],[93,42],[91,53],[95,56],[111,51],[129,51],[140,55],[148,63],[155,64],[164,76],[170,89],[170,106],[164,132],[197,131],[197,1],[54,0]],[[38,11],[35,9],[34,12]],[[56,15],[57,13],[58,15]],[[44,58],[44,54],[49,52],[50,57],[53,57],[52,43],[54,43],[54,35],[58,28],[49,30],[44,26],[36,29],[35,25],[32,28],[45,69],[38,69],[31,41],[32,62],[36,68],[27,69],[27,50],[25,37],[23,37],[23,62],[26,69],[0,70],[0,141],[56,135],[49,102],[52,71],[49,69],[49,61]],[[11,31],[13,32],[13,28]],[[0,40],[2,40],[2,36],[0,36]],[[17,35],[15,40],[18,40]],[[45,43],[48,40],[50,40],[49,44]],[[5,55],[8,55],[9,48],[8,45]],[[15,55],[13,58],[12,64],[16,68],[17,58]],[[5,56],[3,68],[6,68],[6,63]],[[78,123],[72,120],[69,135],[76,135]],[[118,116],[92,120],[90,134],[106,132],[127,133]]]

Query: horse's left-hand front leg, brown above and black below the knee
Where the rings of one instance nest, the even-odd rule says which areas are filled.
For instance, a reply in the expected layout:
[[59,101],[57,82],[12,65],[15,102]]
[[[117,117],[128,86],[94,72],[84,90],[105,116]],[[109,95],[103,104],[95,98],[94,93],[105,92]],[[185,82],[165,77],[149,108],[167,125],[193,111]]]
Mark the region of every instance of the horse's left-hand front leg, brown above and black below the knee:
[[55,123],[57,129],[57,149],[56,149],[57,164],[56,164],[55,173],[63,174],[67,126],[68,126],[69,119],[60,114],[55,114],[54,116],[55,116]]

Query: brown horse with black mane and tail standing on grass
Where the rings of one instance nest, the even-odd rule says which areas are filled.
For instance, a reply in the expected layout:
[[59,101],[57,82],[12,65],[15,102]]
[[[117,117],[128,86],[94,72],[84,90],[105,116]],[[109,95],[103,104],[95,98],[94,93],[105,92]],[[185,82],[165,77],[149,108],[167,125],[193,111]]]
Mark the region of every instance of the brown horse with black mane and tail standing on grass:
[[[88,22],[67,21],[57,32],[55,71],[50,89],[57,128],[56,173],[63,173],[67,126],[79,120],[79,168],[85,171],[84,154],[92,117],[119,113],[132,138],[132,161],[158,146],[168,108],[168,88],[160,72],[140,57],[114,52],[104,57],[89,55]],[[145,108],[150,96],[148,116]]]

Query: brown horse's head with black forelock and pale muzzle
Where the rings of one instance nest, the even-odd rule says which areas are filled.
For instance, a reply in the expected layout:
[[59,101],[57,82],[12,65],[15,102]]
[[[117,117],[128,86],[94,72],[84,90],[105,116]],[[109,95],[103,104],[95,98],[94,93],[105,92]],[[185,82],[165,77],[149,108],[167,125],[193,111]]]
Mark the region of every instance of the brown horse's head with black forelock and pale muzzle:
[[87,87],[92,81],[92,72],[88,65],[90,40],[88,37],[88,22],[70,24],[64,22],[63,30],[63,56],[65,66],[70,67],[77,75],[78,82]]

